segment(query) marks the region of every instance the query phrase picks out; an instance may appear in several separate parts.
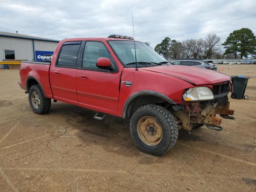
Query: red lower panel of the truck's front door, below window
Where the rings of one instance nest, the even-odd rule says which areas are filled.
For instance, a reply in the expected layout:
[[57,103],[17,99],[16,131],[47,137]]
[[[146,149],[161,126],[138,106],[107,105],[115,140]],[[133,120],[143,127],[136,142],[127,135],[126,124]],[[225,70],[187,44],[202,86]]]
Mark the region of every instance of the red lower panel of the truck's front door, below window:
[[[87,79],[81,76],[86,74]],[[116,115],[120,74],[77,70],[78,106]]]

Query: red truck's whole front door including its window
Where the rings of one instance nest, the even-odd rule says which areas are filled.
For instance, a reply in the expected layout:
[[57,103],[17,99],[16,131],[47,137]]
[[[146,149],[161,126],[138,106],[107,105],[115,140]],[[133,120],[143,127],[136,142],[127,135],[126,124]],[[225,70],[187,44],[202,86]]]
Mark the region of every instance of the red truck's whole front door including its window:
[[[98,68],[98,58],[109,58],[112,70]],[[116,115],[120,74],[103,42],[86,41],[81,66],[76,73],[78,106]]]

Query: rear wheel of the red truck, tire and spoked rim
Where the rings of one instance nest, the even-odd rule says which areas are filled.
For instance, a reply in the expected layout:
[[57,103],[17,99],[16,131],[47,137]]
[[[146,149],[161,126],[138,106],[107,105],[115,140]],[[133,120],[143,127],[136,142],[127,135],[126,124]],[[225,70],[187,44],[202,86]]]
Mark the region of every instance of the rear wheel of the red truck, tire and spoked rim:
[[36,114],[44,114],[51,108],[51,99],[46,98],[39,85],[33,85],[29,89],[28,100],[31,109]]

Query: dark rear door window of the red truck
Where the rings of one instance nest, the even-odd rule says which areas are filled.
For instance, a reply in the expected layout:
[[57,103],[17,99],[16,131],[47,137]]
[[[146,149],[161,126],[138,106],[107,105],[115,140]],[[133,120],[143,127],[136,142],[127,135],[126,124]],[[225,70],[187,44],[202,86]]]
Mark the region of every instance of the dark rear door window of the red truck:
[[64,44],[60,51],[58,65],[62,66],[76,66],[76,59],[81,42],[71,42]]

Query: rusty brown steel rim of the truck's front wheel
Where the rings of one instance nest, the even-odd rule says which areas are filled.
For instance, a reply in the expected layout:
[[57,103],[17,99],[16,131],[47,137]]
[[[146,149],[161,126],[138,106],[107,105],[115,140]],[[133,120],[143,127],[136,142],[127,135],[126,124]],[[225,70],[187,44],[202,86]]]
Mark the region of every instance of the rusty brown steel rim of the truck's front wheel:
[[145,144],[156,146],[163,138],[163,131],[160,123],[151,116],[140,118],[137,124],[137,133]]

